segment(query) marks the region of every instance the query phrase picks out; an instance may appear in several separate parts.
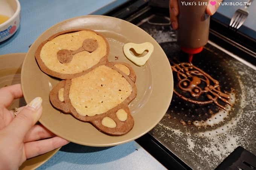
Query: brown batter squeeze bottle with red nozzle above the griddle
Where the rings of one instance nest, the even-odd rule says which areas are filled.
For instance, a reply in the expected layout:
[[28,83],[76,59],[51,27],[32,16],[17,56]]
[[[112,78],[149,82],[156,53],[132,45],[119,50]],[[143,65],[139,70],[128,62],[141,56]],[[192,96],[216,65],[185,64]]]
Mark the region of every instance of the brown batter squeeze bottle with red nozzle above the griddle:
[[200,53],[209,37],[210,16],[206,14],[208,0],[178,0],[177,42],[189,54]]

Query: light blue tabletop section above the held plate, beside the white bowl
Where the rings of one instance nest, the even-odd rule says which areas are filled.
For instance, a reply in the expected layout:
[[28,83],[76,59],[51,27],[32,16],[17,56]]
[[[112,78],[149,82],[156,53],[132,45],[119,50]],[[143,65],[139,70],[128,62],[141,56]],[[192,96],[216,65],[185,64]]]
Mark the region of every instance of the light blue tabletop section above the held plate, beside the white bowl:
[[26,53],[38,36],[60,21],[82,15],[102,15],[127,0],[20,0],[21,23],[17,32],[0,42],[0,55]]

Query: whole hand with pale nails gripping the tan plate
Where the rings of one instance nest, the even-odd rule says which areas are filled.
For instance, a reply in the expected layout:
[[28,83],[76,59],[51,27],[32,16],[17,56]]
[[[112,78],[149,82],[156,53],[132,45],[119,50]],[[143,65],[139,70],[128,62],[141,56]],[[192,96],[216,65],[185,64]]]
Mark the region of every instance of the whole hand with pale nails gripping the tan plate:
[[7,109],[21,97],[20,84],[0,89],[0,169],[17,169],[26,159],[69,143],[42,125],[35,125],[42,115],[42,98],[33,99],[17,112]]

